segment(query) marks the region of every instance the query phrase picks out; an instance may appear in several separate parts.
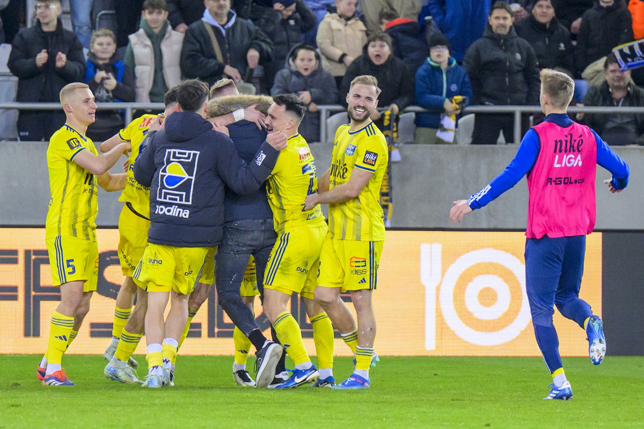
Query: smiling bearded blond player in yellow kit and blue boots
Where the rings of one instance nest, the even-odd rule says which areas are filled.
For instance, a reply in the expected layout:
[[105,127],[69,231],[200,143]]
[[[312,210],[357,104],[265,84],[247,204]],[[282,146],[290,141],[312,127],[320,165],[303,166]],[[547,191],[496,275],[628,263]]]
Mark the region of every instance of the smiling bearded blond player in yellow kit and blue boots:
[[[329,232],[320,255],[316,301],[327,311],[355,354],[355,370],[334,388],[368,388],[374,357],[375,315],[372,292],[384,243],[380,187],[388,162],[383,133],[370,119],[378,105],[378,81],[358,76],[346,95],[350,124],[337,129],[331,167],[320,180],[319,193],[307,196],[306,208],[328,204]],[[357,329],[340,299],[350,291]]]

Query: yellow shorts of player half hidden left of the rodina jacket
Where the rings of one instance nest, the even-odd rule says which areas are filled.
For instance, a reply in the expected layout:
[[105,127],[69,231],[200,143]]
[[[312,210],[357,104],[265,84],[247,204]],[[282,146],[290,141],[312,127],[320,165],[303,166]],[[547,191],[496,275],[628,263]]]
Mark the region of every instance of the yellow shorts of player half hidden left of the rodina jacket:
[[123,275],[131,277],[137,269],[138,262],[143,256],[147,245],[147,230],[150,221],[134,214],[126,205],[123,205],[118,216],[118,260],[121,264]]

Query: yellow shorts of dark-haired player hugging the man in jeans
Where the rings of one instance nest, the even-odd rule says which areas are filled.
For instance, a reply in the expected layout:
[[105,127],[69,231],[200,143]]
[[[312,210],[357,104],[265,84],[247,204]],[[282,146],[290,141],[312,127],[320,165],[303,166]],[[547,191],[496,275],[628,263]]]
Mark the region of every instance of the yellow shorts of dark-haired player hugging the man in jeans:
[[270,251],[264,287],[274,291],[313,299],[317,267],[327,225],[303,227],[280,234]]

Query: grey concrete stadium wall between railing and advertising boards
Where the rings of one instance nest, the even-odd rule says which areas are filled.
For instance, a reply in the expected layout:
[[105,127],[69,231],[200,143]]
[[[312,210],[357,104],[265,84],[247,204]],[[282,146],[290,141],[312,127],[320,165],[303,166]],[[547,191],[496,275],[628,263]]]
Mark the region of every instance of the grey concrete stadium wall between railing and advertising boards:
[[[480,211],[468,214],[460,225],[450,224],[452,202],[468,198],[486,186],[510,162],[517,146],[403,145],[401,162],[392,168],[393,227],[524,229],[527,213],[525,178],[515,189]],[[332,144],[315,143],[311,149],[318,174],[330,165]],[[0,142],[0,225],[42,226],[50,200],[43,142]],[[629,187],[620,194],[607,191],[609,173],[598,167],[597,229],[644,229],[644,148],[614,148],[630,166]],[[124,160],[124,158],[122,158]],[[118,173],[121,162],[111,169]],[[120,192],[99,191],[97,225],[118,223]]]

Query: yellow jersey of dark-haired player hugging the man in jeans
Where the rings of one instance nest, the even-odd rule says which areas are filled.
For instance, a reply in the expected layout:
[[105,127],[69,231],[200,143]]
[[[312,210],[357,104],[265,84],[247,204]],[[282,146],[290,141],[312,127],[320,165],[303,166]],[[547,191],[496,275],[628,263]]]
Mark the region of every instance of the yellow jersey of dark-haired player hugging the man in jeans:
[[307,195],[317,192],[316,166],[307,140],[296,134],[287,141],[288,146],[280,151],[266,187],[278,234],[288,233],[302,225],[325,223],[319,204],[312,210],[304,208]]

